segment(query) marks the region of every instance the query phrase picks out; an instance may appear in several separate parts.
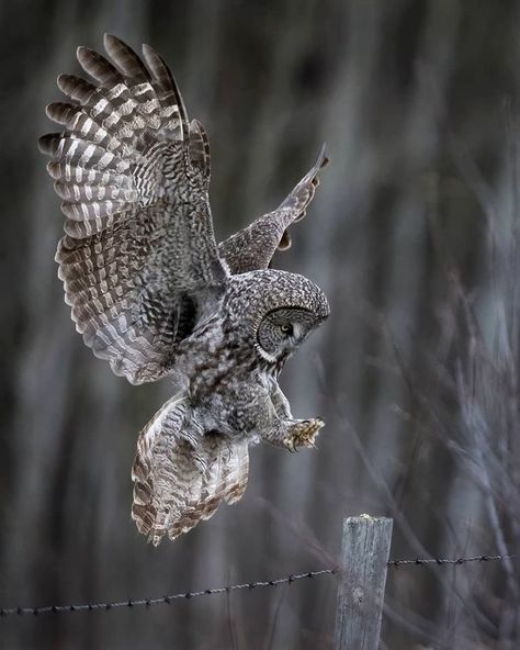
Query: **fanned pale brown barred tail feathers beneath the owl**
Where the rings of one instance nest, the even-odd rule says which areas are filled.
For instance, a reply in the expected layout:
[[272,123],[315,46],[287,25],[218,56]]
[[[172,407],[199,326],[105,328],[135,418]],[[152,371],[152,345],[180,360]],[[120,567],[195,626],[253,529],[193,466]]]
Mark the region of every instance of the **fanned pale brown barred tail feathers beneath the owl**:
[[218,434],[190,436],[184,396],[169,400],[140,432],[132,468],[132,518],[154,546],[208,519],[225,501],[246,491],[246,441]]

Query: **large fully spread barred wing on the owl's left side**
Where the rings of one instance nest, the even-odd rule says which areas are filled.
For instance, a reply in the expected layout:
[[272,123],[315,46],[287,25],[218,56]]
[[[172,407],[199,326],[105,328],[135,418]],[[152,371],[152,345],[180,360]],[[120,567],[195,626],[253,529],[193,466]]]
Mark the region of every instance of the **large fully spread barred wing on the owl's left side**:
[[[188,123],[173,77],[144,45],[144,61],[105,35],[111,60],[78,48],[95,83],[60,75],[65,126],[41,138],[63,199],[56,261],[87,346],[133,383],[171,368],[176,345],[216,304],[227,278],[208,203],[202,125]],[[146,64],[146,65],[145,65]]]

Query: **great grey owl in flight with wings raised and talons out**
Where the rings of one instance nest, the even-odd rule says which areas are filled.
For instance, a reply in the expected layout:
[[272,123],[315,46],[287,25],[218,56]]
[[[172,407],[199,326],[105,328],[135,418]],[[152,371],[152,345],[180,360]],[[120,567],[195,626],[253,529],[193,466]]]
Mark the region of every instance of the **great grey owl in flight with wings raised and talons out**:
[[157,545],[241,497],[249,445],[313,446],[323,426],[294,419],[276,380],[327,300],[268,267],[327,159],[321,150],[276,210],[217,246],[202,124],[151,47],[142,60],[114,36],[104,46],[111,60],[78,48],[94,82],[58,77],[71,101],[47,115],[65,131],[39,146],[63,199],[56,261],[76,328],[116,374],[168,376],[179,390],[140,433],[132,471],[132,516]]

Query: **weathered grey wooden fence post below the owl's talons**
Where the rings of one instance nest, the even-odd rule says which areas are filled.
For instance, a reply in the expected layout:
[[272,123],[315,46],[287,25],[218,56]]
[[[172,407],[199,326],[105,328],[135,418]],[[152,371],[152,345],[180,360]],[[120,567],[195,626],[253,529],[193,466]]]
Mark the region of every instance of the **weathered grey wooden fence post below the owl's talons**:
[[377,650],[393,520],[361,515],[343,522],[336,650]]

